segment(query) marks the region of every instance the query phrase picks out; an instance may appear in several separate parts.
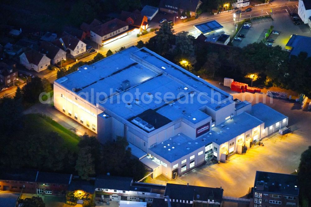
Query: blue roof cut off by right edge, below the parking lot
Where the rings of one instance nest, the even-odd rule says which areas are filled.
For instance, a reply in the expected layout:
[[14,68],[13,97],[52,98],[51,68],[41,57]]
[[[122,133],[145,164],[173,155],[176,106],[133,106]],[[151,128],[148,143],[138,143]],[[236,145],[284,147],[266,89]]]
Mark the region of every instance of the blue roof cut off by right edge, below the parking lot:
[[300,52],[308,53],[311,56],[311,37],[293,34],[288,40],[286,46],[292,47],[290,54],[298,56]]

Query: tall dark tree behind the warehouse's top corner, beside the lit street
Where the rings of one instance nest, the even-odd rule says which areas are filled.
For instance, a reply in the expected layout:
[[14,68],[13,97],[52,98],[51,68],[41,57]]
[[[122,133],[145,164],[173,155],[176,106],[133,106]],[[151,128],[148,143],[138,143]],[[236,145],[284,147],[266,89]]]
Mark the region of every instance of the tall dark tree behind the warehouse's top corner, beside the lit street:
[[160,29],[157,30],[155,37],[155,49],[159,55],[166,55],[174,44],[174,30],[170,24],[160,25]]

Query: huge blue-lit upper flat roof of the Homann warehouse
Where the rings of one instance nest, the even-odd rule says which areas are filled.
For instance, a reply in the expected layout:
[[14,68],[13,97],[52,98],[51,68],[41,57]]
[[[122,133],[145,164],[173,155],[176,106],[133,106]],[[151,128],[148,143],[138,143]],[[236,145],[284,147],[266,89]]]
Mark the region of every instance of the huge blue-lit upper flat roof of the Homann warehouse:
[[[121,90],[122,82],[127,80],[130,88]],[[92,65],[81,66],[78,71],[55,83],[124,119],[152,109],[173,121],[205,105],[218,110],[230,104],[229,99],[232,99],[230,94],[160,55],[134,46]],[[137,90],[140,93],[138,98]],[[105,93],[106,96],[96,97],[97,92]],[[147,93],[153,96],[152,99],[149,99]],[[172,94],[173,98],[167,94]],[[130,95],[140,103],[134,104]],[[192,103],[187,101],[191,99]]]

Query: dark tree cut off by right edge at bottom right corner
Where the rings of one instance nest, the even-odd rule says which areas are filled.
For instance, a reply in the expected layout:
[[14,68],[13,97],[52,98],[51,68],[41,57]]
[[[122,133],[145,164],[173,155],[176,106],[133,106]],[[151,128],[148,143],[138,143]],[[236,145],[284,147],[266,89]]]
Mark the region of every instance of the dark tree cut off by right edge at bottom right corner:
[[305,150],[300,157],[298,182],[299,197],[302,207],[309,207],[311,204],[311,146]]

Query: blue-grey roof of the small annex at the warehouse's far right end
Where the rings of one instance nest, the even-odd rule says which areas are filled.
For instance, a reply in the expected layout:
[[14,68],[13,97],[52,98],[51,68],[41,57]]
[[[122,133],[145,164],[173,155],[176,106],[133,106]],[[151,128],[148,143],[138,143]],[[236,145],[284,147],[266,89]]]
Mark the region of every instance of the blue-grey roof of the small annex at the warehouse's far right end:
[[285,115],[263,103],[253,105],[251,115],[258,118],[262,122],[265,122],[265,127],[270,127],[276,122],[280,122],[286,118]]

